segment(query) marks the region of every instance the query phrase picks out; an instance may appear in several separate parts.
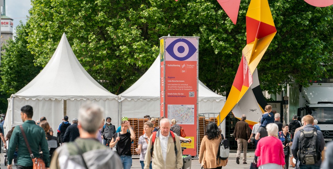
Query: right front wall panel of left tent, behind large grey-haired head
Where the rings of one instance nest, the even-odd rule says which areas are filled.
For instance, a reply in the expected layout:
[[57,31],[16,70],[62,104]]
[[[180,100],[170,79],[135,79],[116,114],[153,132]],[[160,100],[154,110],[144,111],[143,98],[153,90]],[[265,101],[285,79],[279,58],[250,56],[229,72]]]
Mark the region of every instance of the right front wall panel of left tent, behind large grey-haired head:
[[[66,100],[67,103],[67,109],[66,109],[66,115],[69,117],[69,121],[72,123],[73,118],[78,118],[79,114],[79,109],[81,105],[85,103],[94,103],[99,106],[101,106],[104,109],[104,119],[106,117],[111,117],[112,119],[112,124],[115,125],[116,127],[119,126],[119,102],[116,99],[106,99],[106,100]],[[61,119],[60,119],[61,120]],[[60,123],[61,121],[59,121]],[[59,124],[58,123],[58,124]],[[102,123],[102,122],[101,122]],[[105,121],[104,121],[105,123]]]

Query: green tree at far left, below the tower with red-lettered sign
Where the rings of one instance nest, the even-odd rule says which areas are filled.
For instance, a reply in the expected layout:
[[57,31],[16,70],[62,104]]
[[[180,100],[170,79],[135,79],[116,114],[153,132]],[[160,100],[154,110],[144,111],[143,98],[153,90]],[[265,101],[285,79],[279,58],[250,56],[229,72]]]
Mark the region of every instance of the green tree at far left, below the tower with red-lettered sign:
[[8,40],[3,46],[0,66],[0,111],[7,110],[7,98],[28,84],[42,69],[34,65],[34,55],[27,49],[27,30],[29,25],[22,22],[16,27],[15,40]]

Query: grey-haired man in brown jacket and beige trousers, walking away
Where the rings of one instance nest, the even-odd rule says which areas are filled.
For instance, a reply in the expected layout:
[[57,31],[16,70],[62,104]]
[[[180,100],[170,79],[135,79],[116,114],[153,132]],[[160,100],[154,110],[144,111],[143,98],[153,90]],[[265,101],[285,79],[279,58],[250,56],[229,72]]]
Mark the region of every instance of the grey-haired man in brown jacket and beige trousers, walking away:
[[247,140],[250,139],[250,127],[249,124],[245,122],[246,116],[242,115],[240,117],[240,121],[236,123],[235,130],[233,131],[233,136],[237,141],[237,155],[236,155],[236,163],[239,164],[240,152],[243,147],[243,164],[246,163],[246,151],[247,151]]

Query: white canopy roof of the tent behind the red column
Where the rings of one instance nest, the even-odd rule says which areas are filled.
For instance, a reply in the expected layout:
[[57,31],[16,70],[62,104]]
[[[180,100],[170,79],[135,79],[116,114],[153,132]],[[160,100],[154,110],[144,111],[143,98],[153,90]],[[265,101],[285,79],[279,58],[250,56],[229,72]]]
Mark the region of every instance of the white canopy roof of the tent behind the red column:
[[[159,100],[160,99],[160,55],[156,58],[147,72],[141,76],[130,88],[119,95],[119,101],[127,100]],[[199,101],[225,101],[220,96],[208,89],[199,80]]]

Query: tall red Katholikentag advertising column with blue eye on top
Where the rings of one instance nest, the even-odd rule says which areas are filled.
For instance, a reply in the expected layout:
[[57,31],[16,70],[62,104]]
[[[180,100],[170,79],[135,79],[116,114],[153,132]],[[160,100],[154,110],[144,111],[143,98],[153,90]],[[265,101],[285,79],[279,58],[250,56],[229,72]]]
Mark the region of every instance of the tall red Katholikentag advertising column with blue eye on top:
[[191,143],[183,143],[184,154],[197,152],[199,37],[160,38],[161,116],[175,119]]

